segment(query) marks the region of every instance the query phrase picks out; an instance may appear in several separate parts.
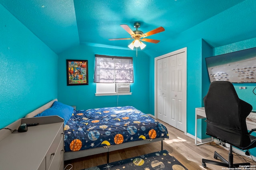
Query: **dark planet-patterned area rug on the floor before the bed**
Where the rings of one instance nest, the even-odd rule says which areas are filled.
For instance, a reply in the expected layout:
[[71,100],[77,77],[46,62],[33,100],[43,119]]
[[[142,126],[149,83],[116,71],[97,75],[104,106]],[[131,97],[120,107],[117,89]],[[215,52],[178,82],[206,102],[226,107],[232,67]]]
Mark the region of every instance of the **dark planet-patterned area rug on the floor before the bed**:
[[84,170],[187,170],[187,168],[167,150],[161,150]]

